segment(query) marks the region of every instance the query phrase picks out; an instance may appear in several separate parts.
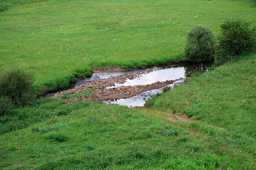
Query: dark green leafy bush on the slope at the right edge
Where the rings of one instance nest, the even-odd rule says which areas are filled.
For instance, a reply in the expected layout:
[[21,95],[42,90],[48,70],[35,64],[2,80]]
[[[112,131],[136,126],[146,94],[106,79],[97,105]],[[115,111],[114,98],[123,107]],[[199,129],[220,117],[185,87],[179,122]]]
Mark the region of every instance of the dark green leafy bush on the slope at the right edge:
[[242,20],[227,20],[220,26],[221,35],[216,45],[215,65],[224,64],[232,57],[251,51],[256,45],[256,28]]

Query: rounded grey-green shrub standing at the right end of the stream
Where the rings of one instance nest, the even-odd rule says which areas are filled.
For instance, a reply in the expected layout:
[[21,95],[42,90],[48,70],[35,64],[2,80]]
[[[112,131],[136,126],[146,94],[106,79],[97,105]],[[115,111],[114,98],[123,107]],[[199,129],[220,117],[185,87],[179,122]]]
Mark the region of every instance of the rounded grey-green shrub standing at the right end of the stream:
[[202,25],[195,25],[188,31],[184,60],[207,62],[214,59],[215,38],[212,31]]

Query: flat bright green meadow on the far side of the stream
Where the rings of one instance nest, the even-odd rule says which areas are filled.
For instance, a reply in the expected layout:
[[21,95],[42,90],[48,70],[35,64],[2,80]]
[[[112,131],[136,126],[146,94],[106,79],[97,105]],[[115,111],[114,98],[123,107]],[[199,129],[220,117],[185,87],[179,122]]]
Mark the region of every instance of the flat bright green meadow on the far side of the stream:
[[215,35],[227,18],[256,23],[250,0],[16,1],[0,0],[10,4],[0,13],[0,70],[31,69],[39,83],[87,66],[177,61],[196,23]]

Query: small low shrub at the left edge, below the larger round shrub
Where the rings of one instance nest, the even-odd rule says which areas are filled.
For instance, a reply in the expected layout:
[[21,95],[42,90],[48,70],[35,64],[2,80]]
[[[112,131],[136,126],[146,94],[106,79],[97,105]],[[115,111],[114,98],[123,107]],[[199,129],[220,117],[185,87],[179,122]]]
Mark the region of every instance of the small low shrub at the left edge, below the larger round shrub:
[[9,97],[0,97],[0,116],[5,114],[11,114],[13,111],[14,105],[12,99]]

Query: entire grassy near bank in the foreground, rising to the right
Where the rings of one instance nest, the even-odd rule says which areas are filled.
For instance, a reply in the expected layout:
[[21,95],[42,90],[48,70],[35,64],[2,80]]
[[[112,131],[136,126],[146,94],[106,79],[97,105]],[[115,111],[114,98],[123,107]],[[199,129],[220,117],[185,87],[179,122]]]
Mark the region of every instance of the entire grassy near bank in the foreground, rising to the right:
[[[256,52],[241,56],[166,92],[155,99],[153,109],[63,103],[68,115],[53,114],[40,124],[0,136],[0,167],[255,169],[255,67]],[[33,108],[54,112],[59,108],[54,101],[42,99]],[[172,123],[167,119],[172,113],[187,113],[202,122]],[[181,133],[165,136],[164,129]],[[44,139],[41,132],[47,130],[69,139]],[[93,151],[85,147],[90,143],[95,144]]]

